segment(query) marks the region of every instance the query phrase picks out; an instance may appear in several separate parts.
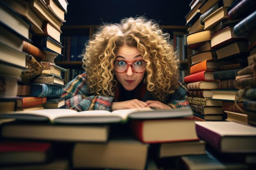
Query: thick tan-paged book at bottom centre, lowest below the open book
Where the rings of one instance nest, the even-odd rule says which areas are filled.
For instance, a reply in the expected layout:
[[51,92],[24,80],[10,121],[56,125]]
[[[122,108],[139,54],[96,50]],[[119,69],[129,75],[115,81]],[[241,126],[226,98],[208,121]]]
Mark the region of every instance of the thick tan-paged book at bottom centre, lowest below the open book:
[[144,170],[148,145],[135,139],[110,139],[107,143],[76,143],[74,168]]

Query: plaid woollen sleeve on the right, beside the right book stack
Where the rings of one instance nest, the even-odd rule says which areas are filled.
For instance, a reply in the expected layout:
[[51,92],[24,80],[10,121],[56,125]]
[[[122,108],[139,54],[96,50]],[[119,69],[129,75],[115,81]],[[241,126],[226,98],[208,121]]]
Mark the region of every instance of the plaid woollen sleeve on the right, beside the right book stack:
[[179,88],[168,99],[167,105],[171,108],[190,107],[189,102],[186,101],[186,91],[186,87],[180,83]]

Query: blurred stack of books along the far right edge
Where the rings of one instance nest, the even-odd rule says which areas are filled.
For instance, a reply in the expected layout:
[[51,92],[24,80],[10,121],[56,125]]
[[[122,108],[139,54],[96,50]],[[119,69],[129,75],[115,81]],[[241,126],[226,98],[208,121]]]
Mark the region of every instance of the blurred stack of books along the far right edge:
[[[237,72],[236,86],[239,91],[236,93],[236,106],[247,115],[248,123],[256,126],[256,11],[253,7],[256,4],[253,0],[243,0],[229,11],[231,20],[241,19],[234,26],[234,34],[238,37],[245,36],[248,39],[248,66]],[[234,112],[234,115],[238,113]]]

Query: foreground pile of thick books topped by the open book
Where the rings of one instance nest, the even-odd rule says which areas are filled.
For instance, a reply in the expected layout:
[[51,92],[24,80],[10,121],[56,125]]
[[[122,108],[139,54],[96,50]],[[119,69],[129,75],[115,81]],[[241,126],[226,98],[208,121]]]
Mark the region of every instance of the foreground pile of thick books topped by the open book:
[[[2,113],[1,118],[16,121],[1,124],[0,156],[11,155],[12,159],[5,157],[3,160],[9,161],[0,164],[6,169],[24,168],[25,164],[28,168],[32,163],[35,167],[38,163],[50,166],[60,159],[52,154],[55,144],[64,142],[70,144],[65,148],[69,152],[65,160],[72,162],[72,169],[144,170],[157,159],[205,154],[205,143],[199,140],[191,115],[190,109],[79,113],[42,109]],[[11,139],[15,141],[9,143]],[[7,144],[8,149],[4,149]],[[22,159],[22,155],[28,156]]]

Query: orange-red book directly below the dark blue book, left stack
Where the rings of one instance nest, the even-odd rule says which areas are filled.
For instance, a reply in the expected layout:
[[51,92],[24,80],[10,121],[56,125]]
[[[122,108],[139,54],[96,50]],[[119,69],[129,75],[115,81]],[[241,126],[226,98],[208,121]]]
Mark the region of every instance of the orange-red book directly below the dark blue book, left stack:
[[26,108],[46,103],[46,97],[17,97],[17,107]]

